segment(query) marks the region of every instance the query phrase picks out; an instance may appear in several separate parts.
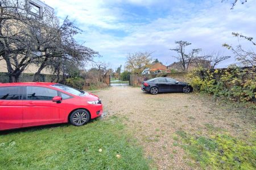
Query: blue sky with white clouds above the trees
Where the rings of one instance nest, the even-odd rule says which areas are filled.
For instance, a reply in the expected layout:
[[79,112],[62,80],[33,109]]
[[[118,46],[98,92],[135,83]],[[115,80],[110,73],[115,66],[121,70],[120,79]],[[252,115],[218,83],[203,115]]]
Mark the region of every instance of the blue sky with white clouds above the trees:
[[[233,54],[222,47],[224,42],[238,45],[232,32],[256,38],[256,0],[244,5],[238,1],[230,10],[232,0],[45,0],[55,8],[61,19],[69,16],[84,32],[77,40],[98,51],[109,67],[125,65],[127,53],[154,52],[165,65],[175,62],[174,41],[189,41],[192,48],[204,54],[220,51]],[[253,48],[240,40],[245,48]],[[255,47],[254,47],[255,48]],[[219,67],[235,63],[234,57]],[[89,65],[88,65],[89,66]]]

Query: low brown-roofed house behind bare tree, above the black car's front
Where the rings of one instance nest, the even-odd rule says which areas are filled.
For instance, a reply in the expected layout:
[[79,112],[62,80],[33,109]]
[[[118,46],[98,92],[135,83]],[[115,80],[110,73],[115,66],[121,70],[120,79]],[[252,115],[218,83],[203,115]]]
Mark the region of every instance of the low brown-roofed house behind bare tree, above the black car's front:
[[[185,60],[185,67],[187,71],[190,71],[200,66],[204,67],[205,69],[210,69],[210,62],[211,61],[207,59],[194,59],[188,65],[188,60]],[[174,62],[171,65],[167,66],[167,70],[184,71],[184,68],[181,62]]]

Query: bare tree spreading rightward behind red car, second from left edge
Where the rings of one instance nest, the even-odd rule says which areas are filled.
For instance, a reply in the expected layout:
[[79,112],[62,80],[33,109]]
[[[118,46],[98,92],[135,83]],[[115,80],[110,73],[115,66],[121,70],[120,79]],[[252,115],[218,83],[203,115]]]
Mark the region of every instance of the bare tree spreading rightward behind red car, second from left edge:
[[[80,29],[75,27],[73,23],[66,18],[61,27],[50,32],[53,36],[51,39],[47,38],[47,41],[44,41],[48,42],[47,45],[42,45],[42,48],[46,49],[43,52],[44,55],[36,60],[39,69],[34,76],[34,82],[39,80],[39,74],[44,68],[49,69],[52,65],[53,68],[56,68],[54,66],[58,66],[59,62],[67,60],[74,62],[76,66],[80,66],[87,61],[92,61],[94,56],[98,55],[98,52],[94,52],[94,50],[76,42],[74,36],[79,33],[79,31]],[[54,32],[56,32],[56,34],[54,34]],[[55,71],[55,69],[53,69],[53,71]]]

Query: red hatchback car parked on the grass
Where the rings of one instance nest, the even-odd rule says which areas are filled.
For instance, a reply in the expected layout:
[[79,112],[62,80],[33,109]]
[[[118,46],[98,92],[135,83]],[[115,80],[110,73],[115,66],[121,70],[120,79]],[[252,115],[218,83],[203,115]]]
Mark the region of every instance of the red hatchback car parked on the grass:
[[98,96],[57,83],[0,83],[0,130],[86,124],[101,116]]

